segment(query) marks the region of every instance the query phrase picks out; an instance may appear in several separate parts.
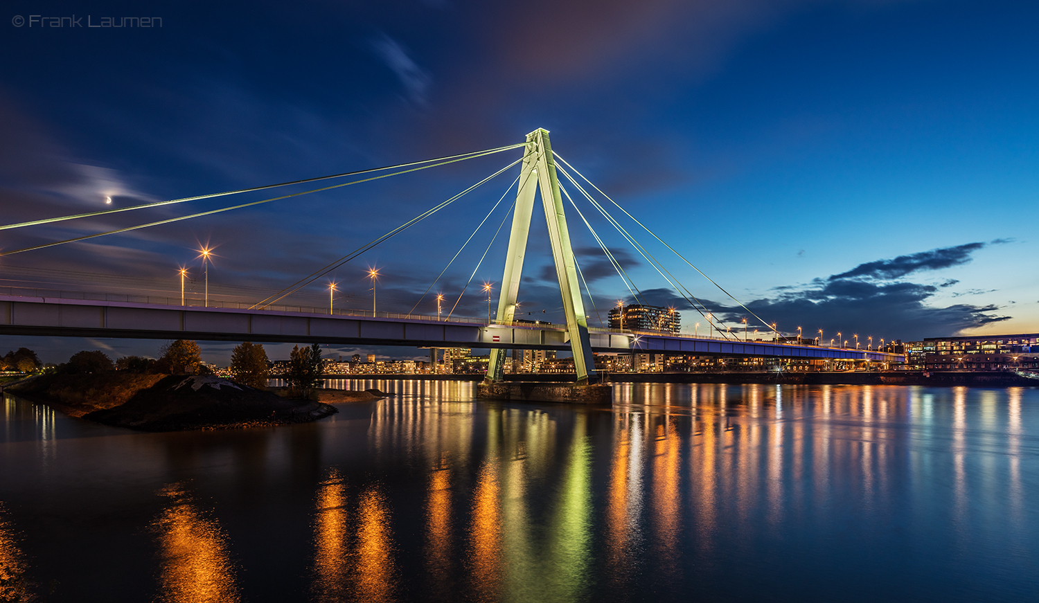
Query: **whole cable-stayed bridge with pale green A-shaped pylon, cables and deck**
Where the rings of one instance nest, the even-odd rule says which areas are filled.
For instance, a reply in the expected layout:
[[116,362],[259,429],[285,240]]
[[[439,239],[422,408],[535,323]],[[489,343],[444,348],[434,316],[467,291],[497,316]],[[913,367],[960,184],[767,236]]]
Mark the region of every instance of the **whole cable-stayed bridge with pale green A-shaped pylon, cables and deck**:
[[[320,176],[290,183],[276,185],[266,185],[250,189],[241,189],[209,195],[185,197],[167,201],[158,201],[141,205],[128,208],[116,208],[74,216],[63,216],[57,218],[45,218],[23,222],[20,224],[8,224],[0,226],[0,229],[36,226],[48,223],[60,222],[101,216],[111,213],[126,212],[131,210],[155,208],[182,203],[204,198],[213,198],[225,195],[234,195],[245,192],[255,192],[266,189],[273,189],[285,186],[300,185],[318,181],[334,179],[344,179],[347,176],[362,175],[364,177],[328,185],[317,189],[279,195],[258,201],[239,203],[221,208],[167,218],[160,221],[138,224],[106,232],[97,232],[63,241],[55,241],[42,245],[4,251],[0,255],[10,255],[15,253],[29,252],[56,245],[77,243],[97,237],[126,232],[138,228],[146,228],[160,224],[171,223],[180,220],[198,219],[220,212],[240,210],[296,197],[310,193],[334,190],[337,188],[371,182],[392,175],[409,173],[430,167],[448,165],[460,161],[486,157],[498,153],[513,149],[523,149],[523,157],[496,171],[491,175],[481,180],[477,184],[468,187],[460,193],[441,202],[430,210],[416,216],[411,220],[404,222],[400,226],[378,237],[351,251],[350,253],[336,259],[328,265],[315,270],[311,274],[300,278],[296,282],[286,286],[277,293],[268,296],[250,304],[237,304],[238,307],[210,307],[208,300],[208,280],[206,307],[190,307],[167,303],[154,303],[151,300],[144,302],[130,300],[118,301],[110,296],[96,296],[97,299],[68,299],[62,296],[18,296],[0,295],[0,333],[23,334],[23,335],[57,335],[57,336],[85,336],[85,337],[132,337],[132,338],[193,338],[201,340],[254,340],[271,342],[319,342],[336,345],[379,345],[379,346],[414,346],[414,347],[471,347],[488,348],[491,350],[490,363],[487,379],[500,381],[504,372],[504,352],[506,349],[543,349],[543,350],[569,350],[574,354],[575,368],[579,383],[593,383],[596,380],[594,352],[622,352],[622,351],[644,351],[689,355],[720,355],[720,356],[744,356],[744,357],[776,357],[776,358],[809,358],[809,359],[842,359],[842,360],[871,360],[878,362],[900,361],[900,355],[875,352],[873,350],[852,350],[844,347],[818,347],[803,344],[785,342],[780,336],[774,323],[768,323],[757,317],[750,308],[747,308],[739,300],[728,294],[721,285],[703,274],[692,263],[686,259],[672,246],[665,243],[652,230],[642,222],[628,213],[616,201],[603,193],[594,184],[584,177],[581,172],[575,169],[569,163],[560,158],[552,150],[549,140],[549,133],[545,130],[535,130],[527,136],[524,143],[502,146],[494,149],[481,150],[459,156],[438,158],[423,162],[401,164],[385,168],[364,170],[361,172],[349,172]],[[557,163],[558,160],[558,163]],[[562,164],[562,165],[560,165]],[[515,200],[509,213],[503,218],[499,231],[505,224],[509,214],[512,215],[512,223],[509,235],[508,251],[505,257],[505,269],[502,276],[498,311],[494,320],[489,316],[487,320],[463,319],[454,316],[454,311],[464,294],[465,287],[472,283],[473,277],[480,265],[487,256],[491,244],[488,244],[477,264],[477,269],[470,276],[470,281],[462,289],[454,307],[448,312],[446,319],[442,317],[421,317],[412,311],[407,313],[377,312],[373,307],[372,312],[345,311],[340,309],[337,313],[334,304],[329,303],[328,312],[317,310],[317,308],[286,307],[286,299],[310,285],[315,280],[324,277],[337,268],[357,257],[362,253],[380,245],[410,226],[419,223],[425,218],[442,211],[457,199],[469,194],[481,185],[507,172],[509,169],[521,166],[520,174],[510,185],[509,190],[515,187]],[[565,166],[565,168],[563,167]],[[651,266],[660,276],[683,298],[690,307],[702,316],[712,330],[719,333],[717,337],[689,336],[676,333],[660,331],[634,332],[623,329],[592,328],[588,325],[588,314],[585,310],[585,301],[593,303],[591,292],[588,289],[581,268],[577,263],[570,244],[569,229],[566,221],[563,199],[565,198],[572,207],[581,222],[588,228],[603,250],[610,265],[617,272],[618,277],[628,289],[630,297],[639,303],[646,304],[642,292],[635,285],[623,266],[617,261],[603,238],[592,227],[590,221],[581,212],[567,188],[563,187],[558,174],[562,174],[568,185],[580,193],[592,209],[606,219],[621,237],[632,245],[637,253]],[[535,199],[540,193],[541,207],[544,211],[545,221],[549,227],[549,240],[552,248],[552,256],[556,268],[556,275],[559,281],[560,293],[563,302],[563,314],[565,324],[545,325],[529,324],[516,321],[516,309],[518,306],[517,296],[520,291],[521,277],[524,259],[527,253],[527,240],[530,232],[530,223],[535,205]],[[596,193],[597,197],[596,198]],[[480,223],[482,226],[490,218],[496,209],[503,203],[509,191],[499,199],[498,203],[487,213],[487,217]],[[726,326],[715,312],[712,312],[681,280],[674,272],[668,270],[654,254],[621,225],[617,217],[607,209],[612,204],[621,213],[620,217],[627,217],[643,228],[649,236],[676,255],[683,264],[691,268],[695,273],[703,276],[712,285],[716,286],[725,296],[730,298],[740,308],[745,310],[746,317],[752,317],[761,323],[762,327],[772,330],[772,341],[747,341],[740,340],[738,331],[734,333],[731,326]],[[615,211],[616,211],[615,210]],[[480,226],[477,227],[479,230]],[[433,280],[430,287],[426,290],[422,298],[431,291],[436,281],[450,268],[451,264],[462,252],[465,245],[472,241],[476,235],[467,240],[462,248],[452,258],[444,271]],[[495,235],[497,238],[497,232]],[[373,279],[376,274],[373,272]],[[582,292],[581,285],[584,285]],[[374,280],[373,280],[374,287]],[[334,289],[334,287],[332,287]],[[332,291],[329,291],[331,295]],[[84,296],[89,297],[89,296]],[[416,307],[422,301],[416,303]],[[278,304],[283,307],[278,307]],[[373,306],[374,306],[373,290]],[[227,304],[221,304],[227,305]],[[649,304],[647,304],[649,305]],[[310,311],[307,311],[310,310]],[[745,321],[744,321],[745,322]],[[746,331],[745,331],[746,332]],[[746,337],[746,335],[745,335]]]

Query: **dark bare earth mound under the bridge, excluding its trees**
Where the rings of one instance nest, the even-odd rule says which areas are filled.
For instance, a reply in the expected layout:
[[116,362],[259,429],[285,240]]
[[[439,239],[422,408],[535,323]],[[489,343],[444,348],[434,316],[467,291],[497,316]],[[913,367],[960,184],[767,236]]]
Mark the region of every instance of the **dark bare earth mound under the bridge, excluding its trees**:
[[214,376],[55,375],[11,391],[71,416],[145,432],[309,422],[339,412]]

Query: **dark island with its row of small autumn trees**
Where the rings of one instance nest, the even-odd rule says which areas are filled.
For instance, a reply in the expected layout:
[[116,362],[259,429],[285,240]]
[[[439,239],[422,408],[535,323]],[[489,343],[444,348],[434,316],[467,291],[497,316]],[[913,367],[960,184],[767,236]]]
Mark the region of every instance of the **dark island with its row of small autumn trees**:
[[[197,344],[178,339],[159,359],[78,352],[69,362],[8,386],[29,402],[73,417],[144,432],[241,429],[310,422],[339,412],[332,404],[372,402],[382,393],[322,389],[317,346],[294,348],[288,387],[268,388],[263,346],[232,355],[232,379],[209,374]],[[326,404],[331,403],[331,404]]]

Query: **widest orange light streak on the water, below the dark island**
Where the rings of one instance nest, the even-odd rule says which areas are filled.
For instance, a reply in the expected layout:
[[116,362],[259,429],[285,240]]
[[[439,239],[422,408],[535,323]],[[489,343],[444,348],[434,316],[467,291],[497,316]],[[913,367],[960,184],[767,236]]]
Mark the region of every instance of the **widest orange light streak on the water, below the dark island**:
[[228,539],[217,522],[198,509],[184,484],[166,486],[167,499],[153,523],[159,541],[159,600],[168,603],[223,603],[241,600]]

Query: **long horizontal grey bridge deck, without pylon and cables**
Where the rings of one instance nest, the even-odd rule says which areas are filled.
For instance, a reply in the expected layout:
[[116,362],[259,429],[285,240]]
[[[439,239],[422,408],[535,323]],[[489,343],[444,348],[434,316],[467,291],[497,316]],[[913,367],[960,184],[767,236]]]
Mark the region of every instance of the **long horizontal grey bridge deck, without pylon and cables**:
[[[568,351],[561,325],[486,325],[429,318],[373,318],[281,310],[204,308],[134,302],[0,295],[0,334],[408,346]],[[735,342],[709,337],[637,334],[589,329],[595,352],[640,350],[720,356],[870,359],[901,356],[814,346]]]

